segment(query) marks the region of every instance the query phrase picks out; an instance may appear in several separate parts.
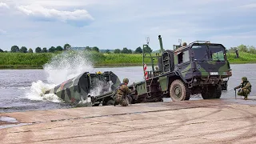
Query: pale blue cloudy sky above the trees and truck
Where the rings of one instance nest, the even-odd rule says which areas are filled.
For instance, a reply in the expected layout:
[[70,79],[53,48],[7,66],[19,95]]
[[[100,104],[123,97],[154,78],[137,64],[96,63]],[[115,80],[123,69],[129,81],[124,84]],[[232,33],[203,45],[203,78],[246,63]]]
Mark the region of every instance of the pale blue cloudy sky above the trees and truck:
[[0,49],[98,46],[165,50],[210,41],[256,46],[256,0],[0,0]]

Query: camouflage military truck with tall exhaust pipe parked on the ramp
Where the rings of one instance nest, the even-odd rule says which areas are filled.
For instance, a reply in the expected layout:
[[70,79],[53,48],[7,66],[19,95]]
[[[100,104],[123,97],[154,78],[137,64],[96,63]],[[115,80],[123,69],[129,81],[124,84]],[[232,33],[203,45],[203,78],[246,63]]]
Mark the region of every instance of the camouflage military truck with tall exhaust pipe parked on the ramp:
[[[201,94],[203,99],[221,98],[232,76],[222,44],[196,41],[187,46],[174,45],[174,50],[164,50],[161,35],[158,39],[158,54],[146,52],[149,45],[143,45],[145,81],[136,83],[136,92],[132,95],[134,103],[159,102],[164,97],[183,101],[189,100],[192,94]],[[146,70],[147,66],[151,70]]]

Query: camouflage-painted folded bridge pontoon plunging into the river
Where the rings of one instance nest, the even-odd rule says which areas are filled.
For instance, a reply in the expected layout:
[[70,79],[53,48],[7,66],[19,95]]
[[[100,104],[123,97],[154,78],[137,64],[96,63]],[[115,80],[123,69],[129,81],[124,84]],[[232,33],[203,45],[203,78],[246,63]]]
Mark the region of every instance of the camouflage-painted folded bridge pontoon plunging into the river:
[[[113,83],[111,86],[108,83],[110,81]],[[111,71],[105,71],[102,74],[90,74],[89,72],[85,72],[47,90],[45,94],[56,94],[65,102],[80,102],[81,100],[86,100],[88,94],[96,89],[99,84],[102,86],[102,89],[99,91],[100,95],[109,92],[110,89],[114,90],[120,83],[117,75]],[[97,97],[97,95],[90,96]]]

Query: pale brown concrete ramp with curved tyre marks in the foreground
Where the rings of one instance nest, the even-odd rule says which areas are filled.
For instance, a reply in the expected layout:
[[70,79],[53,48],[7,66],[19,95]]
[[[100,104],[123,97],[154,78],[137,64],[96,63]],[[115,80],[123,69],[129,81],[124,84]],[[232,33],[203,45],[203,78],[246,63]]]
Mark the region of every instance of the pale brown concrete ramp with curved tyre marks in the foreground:
[[[0,139],[1,143],[256,143],[255,100],[238,97],[5,113],[0,117],[9,123],[0,128]],[[17,120],[16,125],[29,125],[8,127],[10,119]]]

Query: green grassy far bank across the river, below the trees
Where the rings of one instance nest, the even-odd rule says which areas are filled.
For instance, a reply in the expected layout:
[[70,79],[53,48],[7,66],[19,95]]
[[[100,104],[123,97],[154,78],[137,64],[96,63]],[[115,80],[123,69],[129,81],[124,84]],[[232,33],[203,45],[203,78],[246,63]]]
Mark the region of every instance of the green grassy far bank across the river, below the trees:
[[[94,66],[142,66],[142,54],[83,53],[82,55],[93,62]],[[54,56],[62,57],[62,54],[0,53],[0,68],[42,68]],[[69,56],[74,57],[75,53],[70,53]],[[256,63],[256,54],[241,52],[240,58],[235,58],[234,53],[228,53],[227,56],[231,64]],[[146,62],[149,61],[150,59],[146,59]]]

